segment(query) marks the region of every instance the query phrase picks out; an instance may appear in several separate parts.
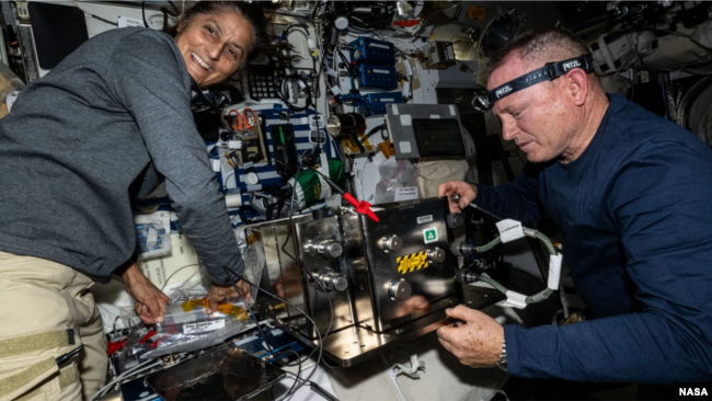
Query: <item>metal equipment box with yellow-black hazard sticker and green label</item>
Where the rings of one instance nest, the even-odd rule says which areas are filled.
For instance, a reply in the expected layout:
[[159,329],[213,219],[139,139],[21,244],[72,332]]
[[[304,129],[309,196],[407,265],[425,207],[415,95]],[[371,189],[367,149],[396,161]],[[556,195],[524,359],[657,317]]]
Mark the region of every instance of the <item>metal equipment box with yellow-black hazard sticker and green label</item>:
[[[378,333],[456,305],[457,257],[450,251],[445,199],[342,217],[356,324]],[[395,249],[389,241],[400,242]]]

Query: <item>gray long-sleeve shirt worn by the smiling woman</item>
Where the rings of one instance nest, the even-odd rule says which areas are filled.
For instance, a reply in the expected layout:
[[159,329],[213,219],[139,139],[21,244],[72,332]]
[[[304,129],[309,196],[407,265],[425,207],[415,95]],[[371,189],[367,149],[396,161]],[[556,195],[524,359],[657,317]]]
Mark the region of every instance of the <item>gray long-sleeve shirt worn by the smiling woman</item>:
[[0,119],[0,250],[105,280],[136,249],[129,199],[162,176],[214,282],[241,275],[190,93],[173,38],[146,28],[97,35],[30,84]]

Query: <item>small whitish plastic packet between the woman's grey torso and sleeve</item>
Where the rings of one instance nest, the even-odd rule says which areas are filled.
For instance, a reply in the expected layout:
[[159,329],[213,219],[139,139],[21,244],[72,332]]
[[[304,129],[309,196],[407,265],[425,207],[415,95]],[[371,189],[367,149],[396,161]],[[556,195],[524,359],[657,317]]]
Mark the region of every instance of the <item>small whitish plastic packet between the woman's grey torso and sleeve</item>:
[[163,256],[171,253],[171,215],[159,210],[150,215],[134,216],[138,244],[138,259]]

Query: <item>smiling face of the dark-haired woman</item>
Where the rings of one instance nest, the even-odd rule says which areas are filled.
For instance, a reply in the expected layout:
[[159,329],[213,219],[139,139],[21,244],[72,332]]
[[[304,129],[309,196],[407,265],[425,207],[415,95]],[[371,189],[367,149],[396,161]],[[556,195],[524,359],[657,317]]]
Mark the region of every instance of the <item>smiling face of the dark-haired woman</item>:
[[175,44],[199,87],[227,80],[248,58],[252,26],[240,14],[198,14],[177,32]]

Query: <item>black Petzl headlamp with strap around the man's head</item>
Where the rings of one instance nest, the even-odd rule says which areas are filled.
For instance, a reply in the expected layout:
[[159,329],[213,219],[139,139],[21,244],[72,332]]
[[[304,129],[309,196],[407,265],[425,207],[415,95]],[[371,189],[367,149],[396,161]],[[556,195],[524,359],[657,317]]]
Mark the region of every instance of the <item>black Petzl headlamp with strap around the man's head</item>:
[[581,68],[586,73],[594,71],[594,62],[592,55],[583,55],[570,58],[563,61],[547,62],[546,66],[525,73],[519,78],[504,83],[491,91],[487,91],[483,85],[478,85],[474,89],[474,99],[472,100],[472,107],[478,112],[484,113],[494,106],[494,103],[502,98],[508,96],[522,89],[529,88],[533,84],[543,81],[553,81],[554,79],[565,75],[574,68]]

